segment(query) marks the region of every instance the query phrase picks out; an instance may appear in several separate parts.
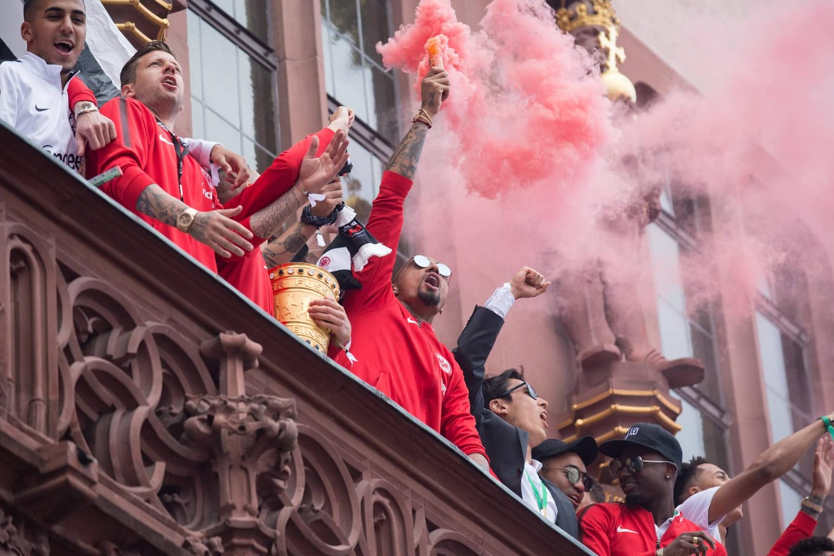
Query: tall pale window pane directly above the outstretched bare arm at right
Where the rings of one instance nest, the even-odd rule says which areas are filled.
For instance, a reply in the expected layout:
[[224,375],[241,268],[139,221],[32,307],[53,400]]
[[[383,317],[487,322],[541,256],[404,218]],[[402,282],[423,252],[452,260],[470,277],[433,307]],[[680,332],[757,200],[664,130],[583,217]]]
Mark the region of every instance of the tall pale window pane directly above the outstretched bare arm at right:
[[768,318],[761,313],[756,313],[756,334],[759,343],[759,361],[765,377],[771,440],[777,442],[794,432],[781,332]]

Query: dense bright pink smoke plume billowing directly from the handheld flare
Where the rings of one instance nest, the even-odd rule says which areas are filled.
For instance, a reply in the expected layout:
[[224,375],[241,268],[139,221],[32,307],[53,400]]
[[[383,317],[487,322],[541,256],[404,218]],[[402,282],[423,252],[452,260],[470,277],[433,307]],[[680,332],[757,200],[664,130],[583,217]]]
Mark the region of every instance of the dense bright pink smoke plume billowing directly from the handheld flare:
[[550,8],[495,0],[472,33],[449,0],[424,0],[414,23],[377,50],[387,67],[422,78],[429,69],[424,45],[435,35],[447,41],[453,93],[444,118],[466,187],[495,198],[547,180],[551,191],[567,193],[614,130],[590,58],[555,28]]

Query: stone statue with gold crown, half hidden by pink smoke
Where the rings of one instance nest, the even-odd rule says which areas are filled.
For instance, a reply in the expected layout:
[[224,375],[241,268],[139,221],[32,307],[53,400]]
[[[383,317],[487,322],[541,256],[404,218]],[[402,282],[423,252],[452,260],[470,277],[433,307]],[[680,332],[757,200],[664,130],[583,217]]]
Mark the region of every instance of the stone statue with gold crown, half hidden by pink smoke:
[[[620,118],[635,118],[636,89],[617,69],[625,51],[617,46],[620,22],[608,0],[561,0],[556,22],[600,65],[608,96]],[[636,178],[639,161],[625,158],[620,166]],[[641,244],[646,226],[661,213],[661,189],[646,188],[605,217],[600,228],[608,253],[560,280],[562,319],[574,343],[580,368],[591,370],[625,359],[647,363],[665,376],[670,388],[701,382],[703,363],[696,358],[669,360],[654,348],[646,331],[638,283]],[[615,259],[615,260],[614,260]]]

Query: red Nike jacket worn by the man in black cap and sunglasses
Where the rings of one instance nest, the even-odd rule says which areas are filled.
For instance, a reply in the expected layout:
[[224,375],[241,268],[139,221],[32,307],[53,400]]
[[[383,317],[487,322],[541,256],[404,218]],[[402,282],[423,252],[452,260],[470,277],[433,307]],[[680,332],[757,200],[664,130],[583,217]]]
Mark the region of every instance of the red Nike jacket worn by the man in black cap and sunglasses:
[[[595,503],[580,514],[580,540],[598,556],[655,556],[658,548],[669,545],[681,533],[700,531],[689,519],[676,513],[666,533],[658,540],[655,518],[641,506],[618,502]],[[707,556],[726,556],[726,549],[716,541]]]

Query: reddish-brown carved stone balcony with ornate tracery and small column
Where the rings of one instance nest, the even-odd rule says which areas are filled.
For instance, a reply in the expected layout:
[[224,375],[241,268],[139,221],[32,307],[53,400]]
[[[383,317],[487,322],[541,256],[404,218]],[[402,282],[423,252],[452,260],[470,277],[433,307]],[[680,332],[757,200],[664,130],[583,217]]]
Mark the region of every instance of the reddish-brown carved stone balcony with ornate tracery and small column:
[[0,554],[588,553],[2,123],[0,143]]

